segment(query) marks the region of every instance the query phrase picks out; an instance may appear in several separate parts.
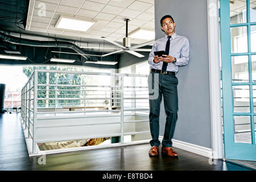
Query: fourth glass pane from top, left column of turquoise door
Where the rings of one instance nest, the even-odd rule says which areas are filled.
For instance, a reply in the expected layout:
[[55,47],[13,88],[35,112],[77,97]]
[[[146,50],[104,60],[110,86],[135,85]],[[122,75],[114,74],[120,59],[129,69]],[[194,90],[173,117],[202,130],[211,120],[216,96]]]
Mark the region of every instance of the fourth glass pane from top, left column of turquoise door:
[[250,113],[249,85],[232,86],[234,113]]

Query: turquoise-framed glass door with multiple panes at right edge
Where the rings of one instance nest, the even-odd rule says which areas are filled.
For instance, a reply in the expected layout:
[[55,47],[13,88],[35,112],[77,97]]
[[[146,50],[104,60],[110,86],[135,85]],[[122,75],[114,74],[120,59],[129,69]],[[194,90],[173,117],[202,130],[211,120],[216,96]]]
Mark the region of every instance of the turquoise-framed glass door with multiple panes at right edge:
[[225,159],[256,161],[256,0],[220,0]]

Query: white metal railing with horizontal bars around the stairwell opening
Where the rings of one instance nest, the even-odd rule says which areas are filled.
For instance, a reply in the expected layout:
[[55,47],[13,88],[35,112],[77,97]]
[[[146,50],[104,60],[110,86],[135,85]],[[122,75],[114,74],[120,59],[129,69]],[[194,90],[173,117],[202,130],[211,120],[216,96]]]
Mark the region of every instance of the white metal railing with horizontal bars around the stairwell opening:
[[[42,74],[47,77],[42,82]],[[109,77],[110,84],[72,84],[72,82],[64,83],[56,80],[49,80],[49,74],[55,75],[79,75],[79,76],[104,76]],[[124,85],[124,77],[133,78],[133,86]],[[138,112],[146,112],[148,114],[148,90],[147,86],[136,86],[135,79],[147,79],[147,75],[135,75],[124,73],[96,73],[96,72],[76,72],[76,71],[56,71],[35,69],[27,83],[22,88],[21,93],[21,121],[26,131],[25,137],[32,139],[32,154],[36,153],[36,143],[48,142],[49,140],[37,139],[38,129],[60,128],[72,126],[91,126],[91,125],[112,125],[121,124],[121,133],[108,135],[90,135],[90,138],[120,136],[121,144],[124,143],[124,135],[134,135],[150,133],[150,131],[124,131],[125,123],[148,122],[148,119],[137,119],[133,121],[125,121],[125,113],[136,114]],[[51,82],[49,82],[51,81]],[[141,102],[142,101],[142,102]],[[70,125],[51,125],[37,126],[38,119],[42,117],[57,118],[60,115],[72,115],[90,113],[116,113],[119,114],[119,122],[106,123],[76,123]],[[71,137],[77,139],[77,137]],[[82,138],[81,138],[82,139]],[[59,140],[55,140],[56,142]]]

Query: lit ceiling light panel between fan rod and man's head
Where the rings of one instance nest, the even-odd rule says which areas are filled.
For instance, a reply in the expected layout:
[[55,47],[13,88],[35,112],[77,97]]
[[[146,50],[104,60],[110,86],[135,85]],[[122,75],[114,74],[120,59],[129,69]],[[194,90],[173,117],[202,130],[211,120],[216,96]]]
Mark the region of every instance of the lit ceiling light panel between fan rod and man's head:
[[128,36],[134,39],[152,40],[155,39],[155,31],[140,27],[130,32]]

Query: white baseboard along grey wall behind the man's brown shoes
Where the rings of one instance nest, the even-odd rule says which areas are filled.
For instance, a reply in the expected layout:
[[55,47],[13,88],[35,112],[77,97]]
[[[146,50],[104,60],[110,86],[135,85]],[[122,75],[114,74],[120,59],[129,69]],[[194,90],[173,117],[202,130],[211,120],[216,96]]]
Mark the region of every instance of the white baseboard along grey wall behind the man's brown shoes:
[[[159,136],[159,140],[162,142],[163,136]],[[203,155],[207,158],[213,158],[212,148],[198,146],[196,144],[181,142],[180,140],[172,139],[172,146],[180,148],[185,151],[193,152],[195,154]]]

